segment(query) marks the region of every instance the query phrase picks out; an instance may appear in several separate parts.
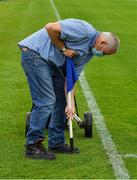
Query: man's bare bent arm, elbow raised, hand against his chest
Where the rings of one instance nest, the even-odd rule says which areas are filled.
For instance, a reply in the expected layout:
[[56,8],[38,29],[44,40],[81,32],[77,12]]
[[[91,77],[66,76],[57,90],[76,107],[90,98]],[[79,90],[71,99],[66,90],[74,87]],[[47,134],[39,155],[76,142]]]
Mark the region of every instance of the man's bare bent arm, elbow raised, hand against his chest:
[[59,38],[61,33],[61,25],[59,24],[59,22],[48,23],[46,24],[45,29],[47,30],[48,35],[51,38],[53,44],[59,50],[63,50],[66,48],[65,51],[63,52],[64,56],[73,58],[74,56],[77,55],[77,52],[65,47],[64,41]]

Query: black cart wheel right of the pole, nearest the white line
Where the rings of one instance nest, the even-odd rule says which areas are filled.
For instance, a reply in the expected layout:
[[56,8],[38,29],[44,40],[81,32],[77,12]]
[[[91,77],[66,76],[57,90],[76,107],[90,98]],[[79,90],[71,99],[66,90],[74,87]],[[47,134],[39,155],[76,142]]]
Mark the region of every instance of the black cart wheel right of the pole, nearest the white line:
[[91,112],[84,113],[84,124],[85,124],[85,137],[92,137],[92,114]]

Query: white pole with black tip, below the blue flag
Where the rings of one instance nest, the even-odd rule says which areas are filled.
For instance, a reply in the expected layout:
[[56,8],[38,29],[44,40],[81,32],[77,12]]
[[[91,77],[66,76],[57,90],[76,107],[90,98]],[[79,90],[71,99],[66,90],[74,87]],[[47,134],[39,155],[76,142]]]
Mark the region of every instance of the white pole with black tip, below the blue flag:
[[[68,93],[68,108],[72,107],[72,92]],[[73,127],[72,127],[72,118],[69,118],[69,135],[70,135],[70,150],[74,149],[74,141],[73,141]]]

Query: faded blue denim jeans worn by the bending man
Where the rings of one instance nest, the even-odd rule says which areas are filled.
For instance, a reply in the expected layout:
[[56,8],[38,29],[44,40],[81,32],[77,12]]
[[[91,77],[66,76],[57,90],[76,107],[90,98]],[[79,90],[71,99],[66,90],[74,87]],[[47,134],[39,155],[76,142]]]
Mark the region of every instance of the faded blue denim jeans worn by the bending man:
[[60,69],[32,50],[22,51],[22,67],[27,77],[32,109],[26,144],[45,139],[44,129],[48,126],[48,146],[65,143],[64,110],[66,105],[64,77]]

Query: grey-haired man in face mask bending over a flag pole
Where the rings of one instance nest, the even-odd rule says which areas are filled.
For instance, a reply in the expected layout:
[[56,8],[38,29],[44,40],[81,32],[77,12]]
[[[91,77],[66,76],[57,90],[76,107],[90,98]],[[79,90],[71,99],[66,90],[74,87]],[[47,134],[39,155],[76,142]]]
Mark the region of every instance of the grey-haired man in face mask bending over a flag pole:
[[[53,152],[70,153],[65,144],[64,111],[67,118],[75,113],[74,89],[72,107],[65,98],[65,58],[73,58],[80,75],[84,65],[94,56],[116,53],[119,39],[110,32],[98,32],[89,23],[65,19],[48,23],[44,28],[19,42],[22,67],[27,77],[34,107],[26,140],[26,157],[55,159]],[[48,126],[47,151],[42,144],[44,128]],[[79,152],[78,148],[74,151]]]

